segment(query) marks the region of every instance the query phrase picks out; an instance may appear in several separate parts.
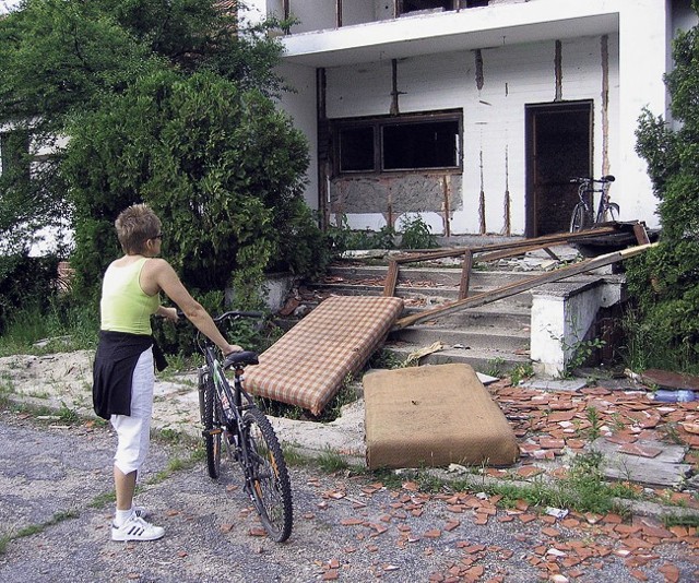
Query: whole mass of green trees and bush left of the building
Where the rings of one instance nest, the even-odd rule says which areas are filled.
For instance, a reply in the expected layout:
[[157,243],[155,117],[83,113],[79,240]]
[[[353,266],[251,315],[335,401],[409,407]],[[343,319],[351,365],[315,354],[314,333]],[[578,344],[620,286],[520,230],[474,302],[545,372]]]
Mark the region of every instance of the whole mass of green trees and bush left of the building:
[[[119,253],[114,219],[134,202],[202,290],[322,269],[308,147],[272,100],[284,83],[266,32],[282,24],[247,26],[215,0],[24,0],[0,21],[0,121],[56,146],[43,194],[74,224],[81,297],[96,296]],[[13,188],[0,228],[29,189]]]

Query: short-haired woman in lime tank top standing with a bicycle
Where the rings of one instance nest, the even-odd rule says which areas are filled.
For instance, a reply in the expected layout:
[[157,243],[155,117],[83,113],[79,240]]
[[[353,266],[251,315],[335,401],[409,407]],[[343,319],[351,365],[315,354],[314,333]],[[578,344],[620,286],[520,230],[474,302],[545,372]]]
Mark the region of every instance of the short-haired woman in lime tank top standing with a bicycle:
[[163,233],[159,218],[147,205],[129,206],[117,217],[115,226],[125,254],[107,267],[103,281],[93,403],[97,415],[111,421],[118,438],[114,463],[117,504],[111,539],[156,540],[165,531],[144,520],[146,511],[133,505],[133,493],[150,444],[155,383],[151,316],[177,320],[176,308],[161,306],[161,291],[224,355],[242,348],[228,344],[211,316],[187,291],[173,266],[164,259],[156,259]]

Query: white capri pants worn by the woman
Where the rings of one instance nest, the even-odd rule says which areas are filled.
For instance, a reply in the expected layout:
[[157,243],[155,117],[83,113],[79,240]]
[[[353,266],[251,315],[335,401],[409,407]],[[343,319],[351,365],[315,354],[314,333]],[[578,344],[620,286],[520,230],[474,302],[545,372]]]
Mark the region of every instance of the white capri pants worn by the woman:
[[125,475],[140,469],[149,453],[154,384],[153,348],[149,348],[141,354],[133,369],[131,415],[112,415],[110,418],[118,438],[114,465]]

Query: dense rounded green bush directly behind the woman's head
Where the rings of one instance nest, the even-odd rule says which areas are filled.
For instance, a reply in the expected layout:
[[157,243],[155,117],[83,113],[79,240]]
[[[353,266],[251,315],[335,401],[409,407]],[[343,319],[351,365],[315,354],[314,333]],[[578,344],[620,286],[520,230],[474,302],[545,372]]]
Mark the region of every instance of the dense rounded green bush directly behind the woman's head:
[[212,73],[161,71],[71,133],[63,168],[79,217],[73,263],[83,297],[96,295],[119,254],[117,214],[141,201],[163,221],[164,257],[204,293],[233,285],[249,297],[265,271],[305,275],[328,261],[329,242],[303,201],[306,141],[254,90]]

